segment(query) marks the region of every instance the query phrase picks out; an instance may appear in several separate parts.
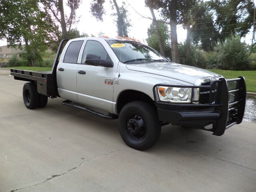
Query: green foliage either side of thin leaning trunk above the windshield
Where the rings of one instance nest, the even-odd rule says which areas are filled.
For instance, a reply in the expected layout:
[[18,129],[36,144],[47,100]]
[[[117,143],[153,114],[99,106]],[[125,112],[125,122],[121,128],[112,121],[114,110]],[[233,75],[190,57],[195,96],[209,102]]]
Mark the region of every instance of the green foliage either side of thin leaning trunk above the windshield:
[[[163,22],[158,22],[159,25],[159,31],[160,31],[160,36],[162,38],[163,44],[164,44],[164,53],[166,57],[171,58],[171,50],[170,50],[170,30],[167,24]],[[156,32],[156,27],[154,23],[150,24],[150,28],[148,28],[148,38],[146,39],[146,42],[148,45],[158,52],[160,52],[160,47],[158,44],[158,36]]]

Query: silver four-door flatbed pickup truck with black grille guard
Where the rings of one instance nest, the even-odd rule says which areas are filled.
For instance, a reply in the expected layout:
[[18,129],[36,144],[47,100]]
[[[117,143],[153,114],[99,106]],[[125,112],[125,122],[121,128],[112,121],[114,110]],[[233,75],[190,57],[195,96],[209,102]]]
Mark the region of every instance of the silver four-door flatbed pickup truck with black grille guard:
[[[65,44],[65,45],[64,45]],[[11,69],[24,80],[28,109],[48,97],[106,119],[118,118],[124,142],[152,147],[161,126],[183,125],[220,136],[242,122],[246,85],[208,70],[170,62],[136,40],[87,37],[62,40],[51,72]]]

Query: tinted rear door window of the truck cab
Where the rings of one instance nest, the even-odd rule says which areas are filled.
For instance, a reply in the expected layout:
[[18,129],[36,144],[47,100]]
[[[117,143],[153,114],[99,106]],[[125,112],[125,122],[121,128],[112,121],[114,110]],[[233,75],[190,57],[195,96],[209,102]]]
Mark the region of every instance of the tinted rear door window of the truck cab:
[[77,63],[78,55],[83,42],[84,41],[73,41],[69,44],[64,56],[64,63]]

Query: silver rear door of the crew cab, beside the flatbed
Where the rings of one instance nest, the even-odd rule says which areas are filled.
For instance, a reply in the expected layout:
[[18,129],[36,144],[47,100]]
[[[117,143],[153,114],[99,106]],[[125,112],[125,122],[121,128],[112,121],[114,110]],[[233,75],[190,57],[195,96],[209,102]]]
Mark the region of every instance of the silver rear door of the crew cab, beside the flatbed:
[[57,67],[58,92],[61,98],[78,102],[76,89],[76,72],[78,56],[84,40],[68,42],[62,51]]

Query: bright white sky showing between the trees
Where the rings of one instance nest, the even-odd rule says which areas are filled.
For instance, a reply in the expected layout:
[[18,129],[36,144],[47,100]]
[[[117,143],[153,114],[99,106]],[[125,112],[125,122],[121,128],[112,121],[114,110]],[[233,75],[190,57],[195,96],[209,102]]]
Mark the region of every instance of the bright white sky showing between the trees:
[[[114,38],[117,34],[116,24],[114,23],[114,17],[111,16],[111,13],[114,10],[111,10],[110,0],[106,0],[104,4],[104,8],[106,10],[106,15],[103,16],[103,22],[97,21],[92,14],[90,13],[90,3],[91,0],[82,0],[82,3],[77,10],[77,16],[80,16],[80,21],[78,24],[73,25],[72,28],[77,28],[80,33],[87,33],[89,36],[93,34],[94,36],[98,36],[99,32],[103,32],[105,35]],[[118,6],[122,6],[122,2],[126,3],[129,18],[131,20],[132,27],[130,27],[129,36],[132,38],[136,38],[141,42],[146,43],[146,38],[148,37],[147,30],[152,23],[152,20],[143,18],[141,15],[146,17],[152,17],[149,8],[144,6],[144,0],[116,0]],[[65,2],[65,0],[64,0]],[[130,5],[129,5],[130,4]],[[68,8],[64,7],[65,11],[68,13]],[[134,10],[135,9],[135,10]],[[155,11],[156,17],[160,18],[158,12]],[[177,35],[178,42],[184,42],[186,40],[186,30],[182,28],[182,26],[177,26]],[[252,29],[242,41],[250,44],[252,41]],[[0,46],[6,45],[6,40],[0,40]]]

